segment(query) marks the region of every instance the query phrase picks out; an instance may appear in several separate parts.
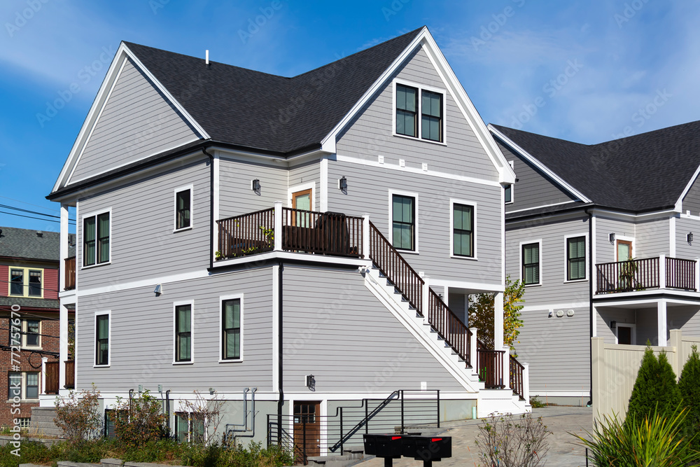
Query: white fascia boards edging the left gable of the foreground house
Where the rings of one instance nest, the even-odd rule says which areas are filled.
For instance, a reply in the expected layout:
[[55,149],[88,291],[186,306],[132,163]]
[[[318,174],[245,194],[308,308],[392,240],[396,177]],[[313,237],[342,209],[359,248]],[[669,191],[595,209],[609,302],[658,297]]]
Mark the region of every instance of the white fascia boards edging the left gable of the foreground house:
[[141,70],[141,72],[143,72],[148,77],[148,79],[151,80],[151,82],[154,83],[155,87],[158,88],[158,90],[160,90],[160,92],[162,92],[163,95],[165,95],[169,102],[181,113],[181,115],[188,121],[188,123],[192,125],[195,131],[200,134],[200,137],[202,137],[202,139],[209,139],[209,134],[207,134],[207,132],[204,131],[204,128],[202,128],[202,126],[199,123],[197,123],[197,121],[195,121],[195,119],[192,116],[190,116],[190,113],[188,113],[188,111],[185,110],[185,108],[177,101],[177,99],[175,99],[175,97],[173,97],[172,94],[170,94],[170,92],[165,88],[165,86],[162,85],[162,83],[160,83],[160,81],[158,81],[158,79],[156,79],[155,76],[153,76],[153,74],[151,74],[151,71],[148,71],[144,64],[141,63],[141,60],[139,60],[137,56],[134,55],[134,53],[125,45],[125,43],[122,42],[120,43],[119,48],[117,49],[117,53],[116,55],[114,55],[114,58],[111,64],[109,65],[107,74],[104,77],[104,80],[102,81],[102,85],[100,85],[99,91],[97,92],[97,97],[95,97],[94,101],[92,102],[90,111],[87,113],[87,117],[83,122],[83,126],[80,128],[78,137],[73,143],[73,148],[71,148],[71,152],[69,153],[68,159],[66,160],[66,163],[64,164],[63,169],[59,174],[59,177],[53,187],[52,192],[68,184],[70,174],[72,174],[73,169],[78,163],[80,154],[83,152],[83,148],[85,148],[85,145],[87,144],[89,136],[92,133],[92,129],[94,128],[94,125],[97,125],[97,119],[99,118],[100,113],[102,113],[102,109],[106,104],[106,99],[107,97],[109,97],[109,94],[119,76],[119,72],[127,58],[131,59],[134,65],[138,67]]

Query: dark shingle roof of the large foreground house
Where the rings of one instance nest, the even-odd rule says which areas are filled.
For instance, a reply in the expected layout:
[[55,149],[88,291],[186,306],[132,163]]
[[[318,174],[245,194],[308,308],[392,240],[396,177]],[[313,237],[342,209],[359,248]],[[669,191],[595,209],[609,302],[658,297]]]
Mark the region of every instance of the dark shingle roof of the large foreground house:
[[318,146],[421,29],[293,78],[125,44],[212,140],[293,153]]

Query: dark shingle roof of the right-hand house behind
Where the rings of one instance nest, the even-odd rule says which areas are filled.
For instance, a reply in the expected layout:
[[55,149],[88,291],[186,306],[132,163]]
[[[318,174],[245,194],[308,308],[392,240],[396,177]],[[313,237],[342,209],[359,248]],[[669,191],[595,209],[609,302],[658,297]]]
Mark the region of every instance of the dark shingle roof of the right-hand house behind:
[[671,207],[700,166],[700,121],[592,145],[493,127],[605,207]]

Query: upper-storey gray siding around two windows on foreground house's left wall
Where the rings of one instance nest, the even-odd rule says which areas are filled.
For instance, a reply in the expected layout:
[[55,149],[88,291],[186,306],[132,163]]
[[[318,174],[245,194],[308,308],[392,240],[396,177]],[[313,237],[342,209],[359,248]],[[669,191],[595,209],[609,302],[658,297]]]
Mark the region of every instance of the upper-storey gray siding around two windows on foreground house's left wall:
[[[78,287],[104,287],[209,265],[209,159],[78,201]],[[194,186],[193,228],[174,230],[174,190]],[[82,268],[83,216],[111,208],[111,264]]]

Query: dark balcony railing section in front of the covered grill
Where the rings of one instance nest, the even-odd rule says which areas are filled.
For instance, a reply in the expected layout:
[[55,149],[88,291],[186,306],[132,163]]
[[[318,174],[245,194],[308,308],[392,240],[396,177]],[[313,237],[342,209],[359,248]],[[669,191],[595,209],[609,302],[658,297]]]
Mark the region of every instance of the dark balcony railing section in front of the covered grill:
[[282,249],[331,256],[363,256],[361,217],[282,208]]

